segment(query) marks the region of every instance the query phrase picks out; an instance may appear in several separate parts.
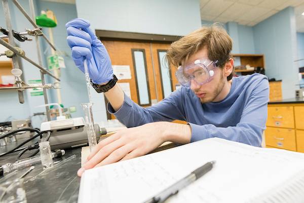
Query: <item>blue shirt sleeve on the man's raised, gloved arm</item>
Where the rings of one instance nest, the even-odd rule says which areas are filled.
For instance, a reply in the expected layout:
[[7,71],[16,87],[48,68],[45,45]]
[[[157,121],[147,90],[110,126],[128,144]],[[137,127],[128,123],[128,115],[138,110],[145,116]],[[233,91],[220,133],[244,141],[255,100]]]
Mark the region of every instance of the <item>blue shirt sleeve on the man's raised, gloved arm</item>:
[[124,103],[117,112],[109,103],[107,104],[107,110],[127,127],[158,121],[185,120],[181,97],[181,89],[178,89],[158,104],[143,108],[125,94]]

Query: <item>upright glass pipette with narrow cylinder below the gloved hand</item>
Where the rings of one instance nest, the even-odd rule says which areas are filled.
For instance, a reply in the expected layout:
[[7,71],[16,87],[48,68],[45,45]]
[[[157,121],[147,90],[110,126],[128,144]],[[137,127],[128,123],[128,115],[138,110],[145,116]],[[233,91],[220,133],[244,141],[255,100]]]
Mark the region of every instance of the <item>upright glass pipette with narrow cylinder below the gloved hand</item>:
[[91,91],[90,91],[90,86],[91,86],[91,80],[89,76],[89,70],[88,70],[88,64],[87,60],[85,59],[84,61],[84,66],[85,66],[85,76],[86,76],[86,83],[87,83],[87,89],[88,89],[88,96],[89,96],[89,103],[81,104],[84,111],[85,111],[85,122],[86,122],[86,127],[87,127],[87,134],[88,134],[88,142],[89,142],[89,147],[90,151],[93,150],[93,147],[97,145],[96,141],[96,134],[94,130],[94,120],[93,120],[93,114],[92,114],[92,97],[91,97]]

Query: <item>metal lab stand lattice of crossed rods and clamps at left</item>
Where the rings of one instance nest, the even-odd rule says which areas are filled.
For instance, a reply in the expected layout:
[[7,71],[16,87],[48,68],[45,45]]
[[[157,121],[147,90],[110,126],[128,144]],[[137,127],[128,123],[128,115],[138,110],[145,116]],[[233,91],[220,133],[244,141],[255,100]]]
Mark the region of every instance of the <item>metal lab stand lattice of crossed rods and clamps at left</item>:
[[[34,28],[26,29],[25,32],[17,32],[15,30],[13,30],[8,0],[2,0],[7,29],[0,27],[0,32],[2,32],[4,34],[3,36],[0,36],[0,44],[5,46],[9,50],[6,51],[5,53],[0,53],[0,57],[6,55],[7,57],[12,58],[12,61],[13,61],[12,74],[15,76],[16,82],[13,87],[1,87],[0,90],[16,89],[18,91],[19,102],[21,104],[23,104],[24,103],[23,91],[25,89],[42,88],[43,92],[44,92],[45,104],[48,104],[48,96],[47,96],[46,89],[60,88],[60,79],[58,77],[54,76],[51,72],[49,72],[45,67],[42,66],[42,56],[41,56],[41,52],[40,52],[41,48],[40,48],[40,42],[39,42],[38,38],[43,37],[54,51],[56,51],[56,48],[49,41],[49,39],[44,35],[42,28],[38,27],[36,25],[36,23],[34,22],[35,11],[34,11],[33,0],[28,1],[31,16],[24,10],[24,8],[20,5],[20,3],[17,0],[12,0],[12,2],[20,10],[20,12],[24,15],[24,17],[32,24],[32,26]],[[39,59],[39,63],[36,63],[36,62],[32,61],[30,58],[26,57],[25,52],[22,49],[16,47],[14,39],[17,39],[19,42],[32,41],[32,39],[30,39],[26,36],[33,36],[35,38],[36,50],[37,50],[37,56]],[[9,39],[9,43],[7,43],[5,40],[3,40],[5,38]],[[38,69],[40,69],[42,85],[30,86],[21,80],[22,71],[20,70],[19,63],[18,63],[19,57],[28,61],[29,63],[33,64]],[[56,79],[56,82],[54,84],[46,84],[45,83],[45,74]],[[49,113],[49,107],[46,107],[46,112],[47,112],[47,119],[48,119],[48,121],[50,121],[51,118],[50,118],[50,113]]]

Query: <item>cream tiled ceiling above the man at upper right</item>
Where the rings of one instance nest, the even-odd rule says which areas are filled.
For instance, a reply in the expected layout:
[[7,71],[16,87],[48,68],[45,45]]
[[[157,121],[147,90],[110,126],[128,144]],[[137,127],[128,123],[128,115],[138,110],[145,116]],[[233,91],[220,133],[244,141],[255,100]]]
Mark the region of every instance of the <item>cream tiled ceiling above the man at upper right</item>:
[[200,0],[202,20],[253,26],[286,7],[295,7],[296,29],[304,32],[304,0]]

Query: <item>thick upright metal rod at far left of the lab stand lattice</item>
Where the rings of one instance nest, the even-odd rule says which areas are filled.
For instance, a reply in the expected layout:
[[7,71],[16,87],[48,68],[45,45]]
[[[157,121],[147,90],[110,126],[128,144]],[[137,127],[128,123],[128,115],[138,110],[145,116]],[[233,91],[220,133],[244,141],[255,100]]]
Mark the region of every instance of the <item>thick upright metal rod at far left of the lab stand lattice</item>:
[[[13,37],[13,28],[12,28],[12,24],[11,24],[11,13],[10,13],[10,7],[9,7],[8,0],[2,0],[2,5],[3,5],[3,11],[4,11],[4,17],[5,17],[7,29],[9,30],[9,44],[12,45],[13,47],[16,47],[14,37]],[[20,69],[17,57],[18,56],[15,55],[12,58],[14,69]],[[21,85],[21,84],[18,84],[18,86],[19,85]],[[18,90],[18,97],[19,97],[19,102],[21,104],[23,104],[24,103],[23,91]]]

